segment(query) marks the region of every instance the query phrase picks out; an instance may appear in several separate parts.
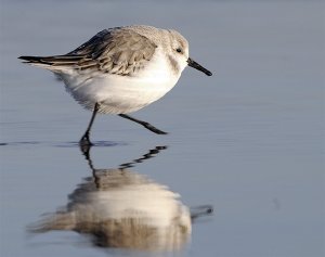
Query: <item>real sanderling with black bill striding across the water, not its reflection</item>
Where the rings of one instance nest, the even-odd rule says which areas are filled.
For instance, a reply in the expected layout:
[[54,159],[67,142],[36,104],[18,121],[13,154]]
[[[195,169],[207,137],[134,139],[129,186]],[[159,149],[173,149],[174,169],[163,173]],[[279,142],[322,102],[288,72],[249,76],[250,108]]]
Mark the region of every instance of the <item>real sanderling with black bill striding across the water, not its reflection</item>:
[[75,100],[92,111],[80,140],[88,145],[96,113],[117,114],[165,134],[128,114],[164,97],[187,65],[212,75],[190,59],[188,42],[181,34],[142,25],[104,29],[67,54],[20,59],[53,72]]

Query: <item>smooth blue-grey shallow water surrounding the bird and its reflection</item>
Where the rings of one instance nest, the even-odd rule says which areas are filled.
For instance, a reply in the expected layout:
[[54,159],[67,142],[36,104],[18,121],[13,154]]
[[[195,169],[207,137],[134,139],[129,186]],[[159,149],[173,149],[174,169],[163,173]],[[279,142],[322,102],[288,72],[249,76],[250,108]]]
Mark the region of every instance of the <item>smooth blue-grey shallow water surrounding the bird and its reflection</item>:
[[[87,158],[77,142],[90,113],[50,73],[16,57],[65,53],[128,24],[180,30],[213,76],[186,68],[169,94],[134,114],[168,136],[99,116]],[[1,0],[0,25],[1,256],[325,255],[323,2]],[[94,169],[125,167],[179,194],[170,206],[213,214],[165,249],[99,246],[91,232],[70,229],[28,231],[92,183]]]

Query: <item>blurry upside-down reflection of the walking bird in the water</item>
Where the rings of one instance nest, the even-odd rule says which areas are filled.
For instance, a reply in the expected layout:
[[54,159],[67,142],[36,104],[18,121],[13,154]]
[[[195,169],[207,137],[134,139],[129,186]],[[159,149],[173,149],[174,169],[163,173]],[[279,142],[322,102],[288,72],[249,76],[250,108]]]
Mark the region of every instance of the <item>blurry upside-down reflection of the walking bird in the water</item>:
[[69,230],[92,235],[101,247],[140,250],[177,250],[190,240],[192,221],[211,213],[210,206],[191,210],[167,187],[131,171],[138,163],[156,156],[167,146],[118,168],[96,169],[90,149],[81,149],[92,170],[68,196],[68,204],[32,224],[31,232]]

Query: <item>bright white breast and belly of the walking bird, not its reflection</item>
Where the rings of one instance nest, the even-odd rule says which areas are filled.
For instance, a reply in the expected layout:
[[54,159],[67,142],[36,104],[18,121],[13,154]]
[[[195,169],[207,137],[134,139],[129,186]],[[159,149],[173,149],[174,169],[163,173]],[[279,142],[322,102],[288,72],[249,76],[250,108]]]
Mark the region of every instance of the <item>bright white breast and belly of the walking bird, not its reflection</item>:
[[93,110],[100,103],[101,113],[132,113],[164,97],[180,78],[181,74],[170,72],[165,57],[156,56],[152,61],[134,77],[99,72],[92,77],[77,72],[61,77],[67,91],[86,108]]

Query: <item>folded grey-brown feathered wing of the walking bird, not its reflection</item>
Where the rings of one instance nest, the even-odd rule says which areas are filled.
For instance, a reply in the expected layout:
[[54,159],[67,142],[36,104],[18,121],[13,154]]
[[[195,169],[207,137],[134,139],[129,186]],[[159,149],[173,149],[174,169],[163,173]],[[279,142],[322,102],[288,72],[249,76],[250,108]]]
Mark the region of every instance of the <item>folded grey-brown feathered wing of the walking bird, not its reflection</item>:
[[127,29],[105,29],[89,41],[67,53],[76,60],[79,70],[98,69],[108,74],[130,76],[142,69],[152,59],[157,46],[146,37]]

